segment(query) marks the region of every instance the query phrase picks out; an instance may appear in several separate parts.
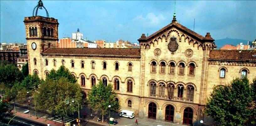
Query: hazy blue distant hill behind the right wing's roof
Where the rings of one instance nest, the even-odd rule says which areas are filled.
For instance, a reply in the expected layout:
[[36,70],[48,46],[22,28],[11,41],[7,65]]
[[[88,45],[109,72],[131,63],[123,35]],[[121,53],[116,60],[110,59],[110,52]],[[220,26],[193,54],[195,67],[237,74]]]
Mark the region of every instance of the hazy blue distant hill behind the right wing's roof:
[[[224,45],[234,45],[234,46],[237,46],[241,42],[243,43],[243,45],[247,45],[248,41],[249,40],[224,38],[224,39],[215,40],[215,44],[216,44],[216,46],[218,46],[217,49],[220,49]],[[252,40],[250,40],[250,41],[252,41]]]

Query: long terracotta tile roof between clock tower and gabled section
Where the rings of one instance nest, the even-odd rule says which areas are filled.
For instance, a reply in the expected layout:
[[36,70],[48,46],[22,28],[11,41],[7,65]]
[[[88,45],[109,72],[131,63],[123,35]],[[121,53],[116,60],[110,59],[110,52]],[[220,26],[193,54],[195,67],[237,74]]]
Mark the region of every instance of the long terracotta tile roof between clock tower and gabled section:
[[43,55],[140,57],[141,52],[133,48],[50,48]]

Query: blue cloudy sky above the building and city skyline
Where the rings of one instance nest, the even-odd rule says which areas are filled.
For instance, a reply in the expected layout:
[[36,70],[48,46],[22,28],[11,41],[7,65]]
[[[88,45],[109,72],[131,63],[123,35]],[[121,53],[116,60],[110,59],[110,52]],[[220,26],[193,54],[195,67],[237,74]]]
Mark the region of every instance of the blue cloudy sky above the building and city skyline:
[[[50,17],[58,19],[59,39],[72,37],[79,28],[84,39],[138,43],[141,34],[150,36],[177,21],[215,40],[256,39],[256,1],[85,1],[42,0]],[[33,16],[35,0],[0,0],[0,42],[26,43],[24,17]],[[176,8],[176,9],[174,9]],[[46,17],[44,9],[38,16]],[[195,28],[194,28],[195,20]]]

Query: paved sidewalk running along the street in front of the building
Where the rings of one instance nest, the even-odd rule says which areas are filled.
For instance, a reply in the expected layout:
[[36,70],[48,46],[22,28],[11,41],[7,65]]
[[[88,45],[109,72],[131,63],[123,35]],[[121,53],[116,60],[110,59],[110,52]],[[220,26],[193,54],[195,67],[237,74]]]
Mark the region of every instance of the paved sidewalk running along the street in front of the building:
[[[13,106],[13,105],[12,105]],[[51,115],[47,115],[46,114],[46,121],[45,121],[45,113],[42,112],[37,112],[37,117],[38,119],[36,119],[35,117],[35,110],[34,108],[30,108],[30,114],[31,117],[29,117],[29,113],[24,114],[23,112],[25,110],[28,110],[28,107],[26,105],[22,105],[22,104],[16,104],[16,113],[13,115],[17,115],[20,117],[24,117],[27,119],[31,119],[34,121],[39,121],[45,124],[45,126],[47,125],[47,123],[49,123],[51,126],[62,126],[61,123],[61,117],[57,117],[57,116],[51,116]],[[14,113],[14,109],[12,111]],[[87,117],[85,119],[83,119],[83,113],[87,113]],[[93,114],[93,119],[90,119],[90,114]],[[102,125],[102,126],[109,126],[109,124],[107,123],[107,119],[108,119],[109,114],[104,115],[104,123],[102,123],[102,121],[97,122],[97,118],[102,118],[102,115],[98,114],[98,111],[93,111],[90,110],[87,107],[84,107],[83,109],[80,110],[80,125],[81,126],[89,126],[89,123],[94,123],[95,125]],[[74,121],[76,120],[78,117],[78,114],[75,113],[72,116],[69,117],[64,117],[64,124],[66,122],[72,122],[71,126],[73,126],[73,124],[75,124],[77,126],[77,123]],[[116,124],[115,126],[136,126],[135,124],[135,120],[138,120],[138,125],[139,126],[157,126],[157,125],[162,125],[162,126],[179,126],[177,124],[173,124],[171,122],[165,122],[165,121],[159,121],[159,120],[155,120],[155,119],[139,119],[139,118],[133,118],[133,119],[128,119],[125,117],[120,117],[118,115],[118,113],[115,112],[110,112],[110,117],[114,118],[115,120],[118,121],[118,124]],[[112,124],[110,124],[111,126],[114,126]]]

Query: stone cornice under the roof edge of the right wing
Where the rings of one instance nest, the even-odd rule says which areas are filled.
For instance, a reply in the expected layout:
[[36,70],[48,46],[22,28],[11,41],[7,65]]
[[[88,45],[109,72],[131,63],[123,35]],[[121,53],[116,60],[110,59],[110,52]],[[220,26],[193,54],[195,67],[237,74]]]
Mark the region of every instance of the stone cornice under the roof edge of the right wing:
[[255,61],[208,61],[211,65],[256,66]]

